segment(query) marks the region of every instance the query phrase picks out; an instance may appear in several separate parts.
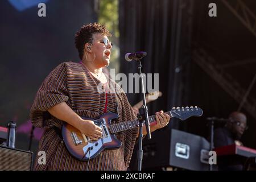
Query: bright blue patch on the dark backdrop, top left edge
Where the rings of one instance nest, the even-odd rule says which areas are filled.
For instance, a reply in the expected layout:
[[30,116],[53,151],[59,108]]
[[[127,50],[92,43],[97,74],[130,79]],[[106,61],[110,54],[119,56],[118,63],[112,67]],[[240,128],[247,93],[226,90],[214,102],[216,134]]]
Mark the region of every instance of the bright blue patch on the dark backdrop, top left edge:
[[8,0],[11,5],[18,11],[24,11],[33,6],[38,6],[39,3],[46,3],[49,0]]

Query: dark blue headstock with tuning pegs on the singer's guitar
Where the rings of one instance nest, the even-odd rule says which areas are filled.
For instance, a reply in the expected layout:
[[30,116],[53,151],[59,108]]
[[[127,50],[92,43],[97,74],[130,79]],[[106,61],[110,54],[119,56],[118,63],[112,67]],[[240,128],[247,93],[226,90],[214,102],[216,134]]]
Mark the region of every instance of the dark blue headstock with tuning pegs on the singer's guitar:
[[203,115],[203,110],[199,107],[172,107],[171,110],[172,117],[179,118],[180,120],[185,120],[190,117],[200,117]]

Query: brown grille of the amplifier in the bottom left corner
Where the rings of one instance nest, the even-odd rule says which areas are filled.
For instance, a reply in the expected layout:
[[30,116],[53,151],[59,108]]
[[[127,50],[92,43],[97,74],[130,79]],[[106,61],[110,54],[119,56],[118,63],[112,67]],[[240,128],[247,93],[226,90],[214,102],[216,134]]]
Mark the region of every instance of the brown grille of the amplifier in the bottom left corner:
[[33,152],[0,146],[0,171],[32,170]]

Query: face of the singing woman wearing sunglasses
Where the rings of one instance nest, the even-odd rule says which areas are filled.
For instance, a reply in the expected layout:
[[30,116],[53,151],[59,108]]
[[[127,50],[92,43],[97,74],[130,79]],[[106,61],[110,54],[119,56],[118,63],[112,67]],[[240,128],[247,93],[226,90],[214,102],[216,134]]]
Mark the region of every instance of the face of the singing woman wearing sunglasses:
[[108,36],[101,33],[93,34],[93,43],[91,46],[92,55],[95,54],[93,64],[97,68],[106,67],[110,62],[112,43],[109,42]]

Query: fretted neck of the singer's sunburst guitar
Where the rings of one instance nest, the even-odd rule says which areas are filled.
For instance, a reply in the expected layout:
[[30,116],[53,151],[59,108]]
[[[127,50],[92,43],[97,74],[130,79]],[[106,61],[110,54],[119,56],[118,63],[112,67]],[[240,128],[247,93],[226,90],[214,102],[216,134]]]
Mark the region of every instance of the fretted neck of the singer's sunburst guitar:
[[[173,117],[172,116],[173,114],[172,114],[171,111],[166,112],[166,114],[170,115],[170,117]],[[150,123],[156,122],[155,115],[149,116],[148,120],[149,120]],[[144,123],[143,123],[143,125],[144,125]],[[138,126],[139,126],[139,120],[135,119],[133,121],[126,121],[126,122],[123,122],[123,123],[110,125],[109,130],[112,134],[114,134],[114,133],[118,133],[120,131],[134,129],[135,127],[138,127]]]

